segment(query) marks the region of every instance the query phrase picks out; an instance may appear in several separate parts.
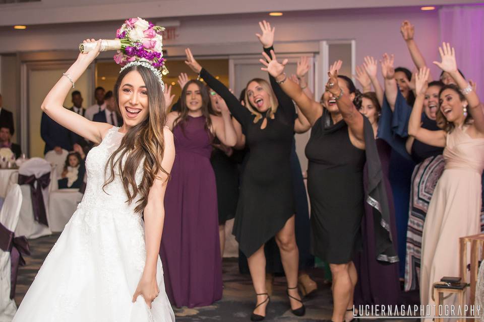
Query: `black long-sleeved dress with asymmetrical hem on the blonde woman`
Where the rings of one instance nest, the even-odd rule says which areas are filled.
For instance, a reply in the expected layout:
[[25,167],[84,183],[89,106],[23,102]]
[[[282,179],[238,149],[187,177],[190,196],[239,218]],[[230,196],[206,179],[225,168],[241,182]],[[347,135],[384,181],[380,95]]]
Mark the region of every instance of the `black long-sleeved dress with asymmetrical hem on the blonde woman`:
[[290,155],[294,128],[294,104],[270,77],[279,107],[274,119],[255,116],[207,70],[200,76],[227,103],[232,116],[242,125],[250,153],[239,191],[233,234],[240,250],[253,255],[294,214]]

